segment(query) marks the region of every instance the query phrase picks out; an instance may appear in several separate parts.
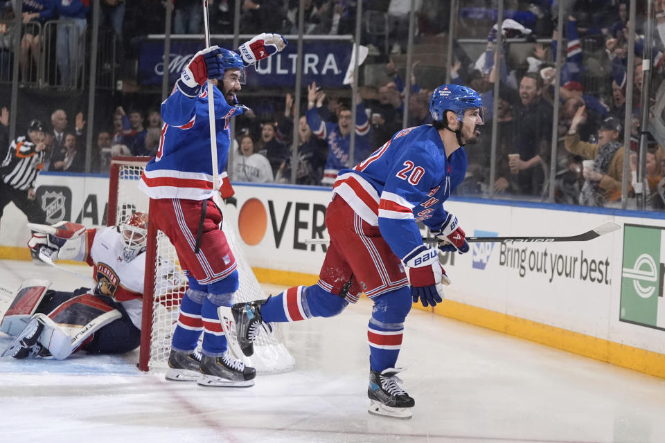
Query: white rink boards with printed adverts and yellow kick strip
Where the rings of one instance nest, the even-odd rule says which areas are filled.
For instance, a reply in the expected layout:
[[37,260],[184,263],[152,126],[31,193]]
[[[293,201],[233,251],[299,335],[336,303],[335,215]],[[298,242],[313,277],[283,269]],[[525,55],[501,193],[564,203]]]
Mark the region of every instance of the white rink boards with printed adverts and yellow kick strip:
[[[41,174],[37,184],[50,222],[105,224],[107,178]],[[328,237],[330,190],[235,189],[224,217],[258,279],[314,284],[325,246],[305,240]],[[619,224],[621,230],[589,242],[484,243],[465,255],[445,253],[452,285],[444,302],[427,310],[665,378],[665,214],[480,199],[445,207],[475,236],[575,235]],[[29,259],[25,224],[13,205],[6,208],[0,257]]]

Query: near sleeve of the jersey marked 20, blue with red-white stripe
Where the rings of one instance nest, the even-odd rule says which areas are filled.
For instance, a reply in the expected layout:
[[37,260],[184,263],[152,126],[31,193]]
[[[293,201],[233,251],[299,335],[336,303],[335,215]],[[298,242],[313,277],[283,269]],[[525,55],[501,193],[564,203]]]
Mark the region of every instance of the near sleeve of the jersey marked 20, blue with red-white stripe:
[[[440,188],[445,167],[443,155],[431,141],[411,146],[393,163],[380,195],[379,229],[398,257],[404,257],[423,244],[416,224],[420,206],[427,205],[431,199],[436,215],[443,211],[441,203],[429,195]],[[414,214],[416,211],[418,213]]]

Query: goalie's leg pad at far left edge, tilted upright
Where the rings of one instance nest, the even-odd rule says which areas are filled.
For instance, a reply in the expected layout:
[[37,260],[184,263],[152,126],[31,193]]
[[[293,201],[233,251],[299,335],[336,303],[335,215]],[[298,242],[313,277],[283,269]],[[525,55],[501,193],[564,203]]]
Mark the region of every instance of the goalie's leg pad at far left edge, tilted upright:
[[30,322],[30,317],[37,311],[39,303],[42,302],[50,286],[50,281],[38,278],[32,278],[21,283],[14,296],[14,301],[12,301],[2,318],[0,332],[16,336],[23,331]]

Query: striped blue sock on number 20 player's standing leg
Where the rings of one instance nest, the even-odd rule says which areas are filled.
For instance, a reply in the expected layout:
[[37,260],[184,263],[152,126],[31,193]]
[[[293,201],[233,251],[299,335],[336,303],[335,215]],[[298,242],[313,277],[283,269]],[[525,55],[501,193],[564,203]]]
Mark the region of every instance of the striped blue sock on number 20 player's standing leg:
[[404,335],[404,321],[411,310],[411,291],[402,287],[374,299],[372,317],[367,326],[369,365],[381,372],[394,368]]

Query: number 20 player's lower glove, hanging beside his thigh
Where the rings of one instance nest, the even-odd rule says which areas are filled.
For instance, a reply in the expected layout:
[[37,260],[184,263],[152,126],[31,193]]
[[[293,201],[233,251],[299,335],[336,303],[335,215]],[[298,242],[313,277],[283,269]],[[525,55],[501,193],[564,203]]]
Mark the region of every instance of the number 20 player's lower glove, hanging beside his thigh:
[[438,262],[438,252],[435,248],[418,246],[408,253],[402,262],[406,266],[409,282],[411,283],[411,298],[414,303],[423,303],[423,306],[436,306],[443,300],[443,284],[450,284],[450,278],[445,275],[443,266]]

